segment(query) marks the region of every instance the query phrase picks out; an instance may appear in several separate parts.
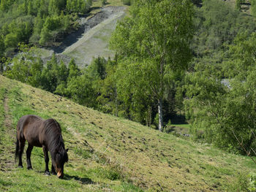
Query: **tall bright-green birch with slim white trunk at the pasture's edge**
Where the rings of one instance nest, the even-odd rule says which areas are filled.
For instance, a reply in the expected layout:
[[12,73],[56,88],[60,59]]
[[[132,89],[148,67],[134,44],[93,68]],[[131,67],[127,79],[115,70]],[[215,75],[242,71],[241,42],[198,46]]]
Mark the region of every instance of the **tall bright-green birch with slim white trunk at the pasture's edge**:
[[[165,88],[177,71],[187,68],[192,57],[192,3],[189,0],[138,0],[132,17],[118,23],[110,47],[121,55],[118,66],[126,81],[157,102],[162,131]],[[128,62],[127,62],[128,61]]]

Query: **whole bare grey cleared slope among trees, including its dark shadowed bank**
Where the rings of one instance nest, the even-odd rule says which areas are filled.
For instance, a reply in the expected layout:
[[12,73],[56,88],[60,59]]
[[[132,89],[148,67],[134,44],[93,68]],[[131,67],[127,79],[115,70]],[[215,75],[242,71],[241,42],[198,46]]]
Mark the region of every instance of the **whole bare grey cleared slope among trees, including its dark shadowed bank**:
[[98,56],[113,58],[115,53],[109,49],[109,39],[118,20],[124,18],[128,9],[124,4],[112,6],[118,3],[121,1],[112,2],[107,7],[99,7],[99,1],[94,2],[91,12],[79,18],[78,31],[67,35],[57,47],[38,48],[36,54],[46,63],[54,52],[58,60],[63,60],[67,64],[74,58],[80,67],[88,66],[93,58]]

